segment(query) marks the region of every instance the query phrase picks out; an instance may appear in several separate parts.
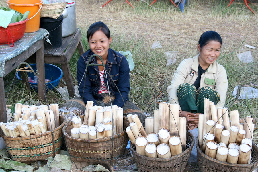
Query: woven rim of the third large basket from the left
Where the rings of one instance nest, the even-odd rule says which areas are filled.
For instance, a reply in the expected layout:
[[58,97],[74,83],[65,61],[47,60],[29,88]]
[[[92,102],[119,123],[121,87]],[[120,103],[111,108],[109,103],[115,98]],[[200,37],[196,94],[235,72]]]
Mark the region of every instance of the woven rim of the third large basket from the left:
[[189,146],[189,148],[187,148],[187,149],[186,149],[185,151],[183,151],[182,153],[177,154],[177,155],[175,155],[175,156],[173,156],[173,157],[168,157],[168,158],[151,158],[151,157],[147,157],[147,156],[140,155],[140,154],[138,154],[138,153],[132,148],[132,142],[130,142],[130,149],[132,150],[133,154],[137,155],[137,157],[143,158],[143,159],[146,160],[146,161],[159,161],[159,162],[171,161],[171,160],[173,160],[173,159],[176,159],[176,158],[179,158],[179,157],[185,155],[185,153],[187,153],[187,152],[189,152],[190,150],[192,150],[193,145],[194,145],[194,137],[193,137],[193,135],[192,135],[190,132],[188,132],[188,131],[186,131],[186,134],[188,134],[189,136],[191,136],[191,138],[193,139],[193,142],[192,142],[191,146]]

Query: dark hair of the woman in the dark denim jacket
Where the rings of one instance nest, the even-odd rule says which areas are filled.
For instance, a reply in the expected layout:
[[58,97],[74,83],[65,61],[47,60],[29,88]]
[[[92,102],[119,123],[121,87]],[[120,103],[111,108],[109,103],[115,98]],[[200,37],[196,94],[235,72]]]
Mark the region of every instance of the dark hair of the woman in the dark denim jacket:
[[107,25],[105,25],[102,21],[98,21],[91,24],[91,26],[89,27],[87,31],[87,40],[89,41],[89,38],[91,38],[93,34],[99,30],[101,30],[107,36],[107,38],[110,38],[110,31]]

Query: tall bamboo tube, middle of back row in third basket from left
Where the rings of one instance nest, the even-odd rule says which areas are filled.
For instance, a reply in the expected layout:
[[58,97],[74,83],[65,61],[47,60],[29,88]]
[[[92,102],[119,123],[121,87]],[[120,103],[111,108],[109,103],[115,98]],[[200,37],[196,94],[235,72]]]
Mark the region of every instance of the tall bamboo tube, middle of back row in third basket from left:
[[159,103],[159,129],[169,129],[169,103]]

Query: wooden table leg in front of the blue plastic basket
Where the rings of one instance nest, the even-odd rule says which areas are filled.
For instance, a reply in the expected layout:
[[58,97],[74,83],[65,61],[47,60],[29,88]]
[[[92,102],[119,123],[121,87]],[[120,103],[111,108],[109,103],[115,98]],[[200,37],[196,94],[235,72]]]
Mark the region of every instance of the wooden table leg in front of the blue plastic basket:
[[40,82],[38,81],[38,98],[42,100],[46,100],[46,86],[45,86],[45,64],[44,64],[44,44],[43,40],[41,48],[36,51],[36,67],[38,70],[38,77]]

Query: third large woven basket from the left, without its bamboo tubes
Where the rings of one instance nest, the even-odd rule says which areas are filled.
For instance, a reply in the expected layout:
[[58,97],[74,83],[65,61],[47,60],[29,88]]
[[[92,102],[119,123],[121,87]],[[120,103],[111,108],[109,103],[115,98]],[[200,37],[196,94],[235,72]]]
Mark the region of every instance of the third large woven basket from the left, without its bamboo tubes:
[[135,146],[130,142],[130,148],[140,172],[182,172],[191,155],[194,145],[194,137],[187,131],[186,150],[169,158],[150,158],[142,156],[135,151]]

